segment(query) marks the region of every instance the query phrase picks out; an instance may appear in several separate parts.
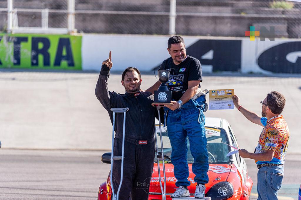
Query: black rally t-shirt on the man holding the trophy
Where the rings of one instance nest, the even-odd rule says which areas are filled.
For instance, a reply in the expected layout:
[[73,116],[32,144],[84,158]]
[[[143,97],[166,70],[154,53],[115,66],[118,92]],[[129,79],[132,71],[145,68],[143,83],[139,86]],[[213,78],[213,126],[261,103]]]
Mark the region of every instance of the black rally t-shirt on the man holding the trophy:
[[[162,62],[160,70],[170,69],[169,81],[166,83],[172,91],[172,99],[178,101],[188,89],[188,81],[200,80],[202,82],[202,67],[200,61],[187,55],[180,64],[175,65],[172,57]],[[200,86],[199,86],[200,87]]]

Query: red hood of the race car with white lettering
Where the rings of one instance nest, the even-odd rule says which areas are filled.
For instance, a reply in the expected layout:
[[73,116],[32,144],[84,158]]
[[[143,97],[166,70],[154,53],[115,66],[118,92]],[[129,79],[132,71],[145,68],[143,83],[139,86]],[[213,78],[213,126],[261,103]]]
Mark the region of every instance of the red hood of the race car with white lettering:
[[[197,183],[194,182],[195,175],[192,172],[192,164],[188,164],[189,167],[189,177],[188,181],[191,182],[191,185],[188,187],[188,190],[192,193],[195,191],[195,187]],[[175,186],[175,182],[177,179],[175,178],[174,172],[173,172],[174,166],[171,163],[165,164],[165,174],[166,174],[166,193],[173,193],[175,189],[177,188]],[[228,179],[231,179],[232,182],[237,182],[237,186],[239,187],[241,177],[240,173],[237,171],[237,168],[233,164],[209,164],[209,170],[207,172],[209,177],[208,184],[205,184],[206,191],[215,184],[222,182],[222,181],[228,181]],[[164,184],[163,181],[163,166],[160,164],[160,175],[162,184]],[[234,187],[235,188],[235,187]],[[238,189],[238,188],[237,188]],[[239,187],[240,189],[240,187]],[[159,182],[159,175],[158,175],[158,166],[157,163],[154,163],[154,169],[153,174],[151,177],[151,183],[150,183],[150,194],[156,194],[161,193],[160,189],[160,182]]]

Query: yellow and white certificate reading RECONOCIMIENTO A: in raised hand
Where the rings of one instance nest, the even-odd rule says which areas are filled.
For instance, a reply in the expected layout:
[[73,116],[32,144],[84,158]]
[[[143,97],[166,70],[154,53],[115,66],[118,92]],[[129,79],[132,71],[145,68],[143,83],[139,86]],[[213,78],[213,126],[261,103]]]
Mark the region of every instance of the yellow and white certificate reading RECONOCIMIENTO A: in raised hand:
[[209,110],[234,109],[234,89],[209,90]]

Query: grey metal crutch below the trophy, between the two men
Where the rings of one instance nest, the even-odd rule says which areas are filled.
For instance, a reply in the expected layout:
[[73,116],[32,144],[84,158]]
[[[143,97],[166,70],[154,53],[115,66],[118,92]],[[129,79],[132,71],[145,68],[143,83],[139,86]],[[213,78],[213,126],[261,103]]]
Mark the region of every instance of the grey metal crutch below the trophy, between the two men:
[[162,187],[162,182],[161,182],[160,164],[159,164],[160,155],[158,154],[158,141],[157,141],[157,133],[156,133],[156,129],[155,129],[155,145],[156,145],[156,153],[157,153],[158,176],[159,176],[162,200],[166,200],[166,175],[165,175],[165,165],[164,165],[164,152],[163,152],[163,140],[162,140],[162,130],[161,130],[160,106],[157,106],[157,110],[158,110],[158,117],[159,117],[159,131],[160,131],[160,141],[161,141],[161,160],[162,160],[162,165],[163,165],[164,188]]

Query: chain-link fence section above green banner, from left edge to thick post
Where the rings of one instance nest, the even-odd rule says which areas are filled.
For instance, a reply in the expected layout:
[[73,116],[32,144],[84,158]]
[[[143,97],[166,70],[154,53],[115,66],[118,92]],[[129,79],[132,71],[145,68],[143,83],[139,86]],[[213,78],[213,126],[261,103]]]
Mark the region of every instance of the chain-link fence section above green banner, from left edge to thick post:
[[0,16],[4,32],[68,33],[68,0],[0,0]]

